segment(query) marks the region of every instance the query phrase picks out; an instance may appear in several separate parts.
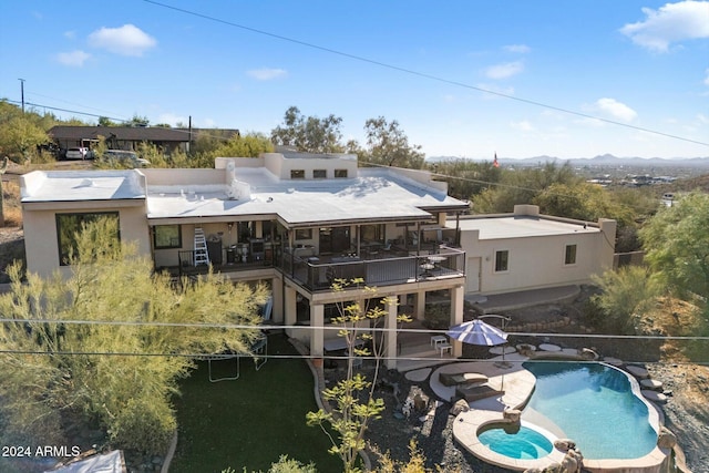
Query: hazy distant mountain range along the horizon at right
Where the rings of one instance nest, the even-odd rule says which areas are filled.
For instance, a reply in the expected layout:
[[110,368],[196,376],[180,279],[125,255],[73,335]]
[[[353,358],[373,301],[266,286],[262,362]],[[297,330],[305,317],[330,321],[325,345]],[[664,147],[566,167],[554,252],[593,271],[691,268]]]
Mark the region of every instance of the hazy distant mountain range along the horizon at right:
[[[473,158],[473,157],[460,157],[460,156],[431,156],[427,157],[428,162],[439,163],[442,161],[456,161],[456,160],[472,160],[472,161],[492,161],[492,158]],[[525,157],[522,160],[512,160],[508,157],[499,157],[497,161],[500,164],[504,164],[506,166],[535,166],[540,163],[566,163],[568,162],[572,166],[630,166],[630,167],[707,167],[709,168],[709,156],[708,157],[672,157],[672,158],[664,158],[664,157],[617,157],[613,154],[603,154],[594,157],[577,157],[572,160],[564,160],[556,156],[534,156],[534,157]]]

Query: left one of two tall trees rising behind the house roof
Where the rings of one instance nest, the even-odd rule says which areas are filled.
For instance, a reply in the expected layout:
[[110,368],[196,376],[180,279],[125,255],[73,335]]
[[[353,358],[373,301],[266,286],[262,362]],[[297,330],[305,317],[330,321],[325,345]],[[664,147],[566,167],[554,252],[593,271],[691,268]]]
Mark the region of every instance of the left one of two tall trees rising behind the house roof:
[[297,106],[291,106],[284,115],[282,125],[271,130],[270,138],[276,145],[294,146],[299,152],[342,153],[341,124],[339,116],[305,116]]

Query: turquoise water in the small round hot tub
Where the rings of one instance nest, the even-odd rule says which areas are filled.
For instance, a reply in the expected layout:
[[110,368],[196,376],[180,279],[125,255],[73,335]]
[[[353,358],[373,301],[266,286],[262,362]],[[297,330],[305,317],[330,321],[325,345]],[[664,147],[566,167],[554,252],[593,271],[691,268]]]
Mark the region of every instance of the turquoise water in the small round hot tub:
[[552,453],[552,442],[540,432],[522,425],[517,432],[493,426],[477,433],[477,440],[501,455],[518,460],[541,459]]

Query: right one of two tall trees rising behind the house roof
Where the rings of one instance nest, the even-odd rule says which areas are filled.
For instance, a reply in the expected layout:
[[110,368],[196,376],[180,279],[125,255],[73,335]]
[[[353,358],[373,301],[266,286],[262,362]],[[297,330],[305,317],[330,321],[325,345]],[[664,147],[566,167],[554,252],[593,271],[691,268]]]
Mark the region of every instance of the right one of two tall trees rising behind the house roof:
[[383,116],[369,119],[364,123],[367,151],[362,161],[384,166],[423,167],[425,155],[421,146],[409,144],[407,134],[395,120],[388,122]]

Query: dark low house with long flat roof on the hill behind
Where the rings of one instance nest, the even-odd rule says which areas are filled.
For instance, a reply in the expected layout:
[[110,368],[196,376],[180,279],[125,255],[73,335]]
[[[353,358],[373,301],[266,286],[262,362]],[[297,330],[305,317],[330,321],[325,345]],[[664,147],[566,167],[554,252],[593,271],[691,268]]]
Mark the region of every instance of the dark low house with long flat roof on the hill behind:
[[[189,143],[194,142],[198,128],[166,128],[162,126],[53,126],[48,133],[60,150],[70,147],[92,148],[99,142],[99,136],[106,140],[112,150],[136,151],[137,146],[145,142],[153,144],[165,153],[175,151],[186,152]],[[219,136],[230,137],[238,135],[238,130],[217,130]]]

